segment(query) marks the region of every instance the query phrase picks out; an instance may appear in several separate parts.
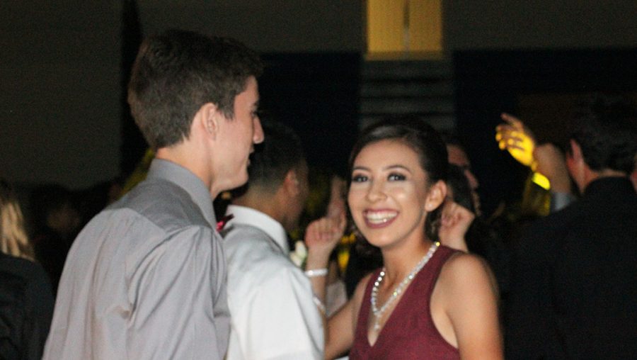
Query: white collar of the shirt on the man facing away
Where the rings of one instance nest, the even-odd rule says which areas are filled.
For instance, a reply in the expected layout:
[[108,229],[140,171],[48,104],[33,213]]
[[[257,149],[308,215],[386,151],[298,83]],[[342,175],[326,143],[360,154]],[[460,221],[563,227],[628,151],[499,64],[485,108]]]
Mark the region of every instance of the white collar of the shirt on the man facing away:
[[265,215],[265,213],[261,213],[253,208],[247,208],[246,206],[229,205],[226,214],[230,213],[234,215],[234,218],[228,222],[228,225],[243,224],[258,227],[271,237],[272,240],[283,249],[285,254],[289,252],[287,234],[277,220],[270,218],[270,216]]

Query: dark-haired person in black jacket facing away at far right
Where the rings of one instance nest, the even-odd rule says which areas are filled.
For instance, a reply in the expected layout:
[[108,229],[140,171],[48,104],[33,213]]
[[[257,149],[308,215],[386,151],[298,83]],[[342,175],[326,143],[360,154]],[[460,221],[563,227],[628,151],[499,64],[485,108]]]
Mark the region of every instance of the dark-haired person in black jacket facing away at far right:
[[516,244],[507,359],[635,359],[633,103],[595,96],[575,114],[569,139],[566,168],[582,195],[536,220]]

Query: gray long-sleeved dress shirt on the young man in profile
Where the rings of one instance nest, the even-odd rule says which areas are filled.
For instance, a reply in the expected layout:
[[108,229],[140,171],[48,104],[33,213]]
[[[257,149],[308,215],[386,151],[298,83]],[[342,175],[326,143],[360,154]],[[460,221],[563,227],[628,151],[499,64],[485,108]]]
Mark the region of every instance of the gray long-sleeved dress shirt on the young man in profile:
[[44,359],[223,359],[229,310],[215,223],[203,182],[155,159],[71,247]]

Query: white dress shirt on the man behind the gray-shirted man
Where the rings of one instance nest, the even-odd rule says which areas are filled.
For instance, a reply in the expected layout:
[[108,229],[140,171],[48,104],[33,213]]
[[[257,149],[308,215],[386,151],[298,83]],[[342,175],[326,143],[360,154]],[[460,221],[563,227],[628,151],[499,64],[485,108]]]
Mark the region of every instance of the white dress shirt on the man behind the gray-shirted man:
[[222,232],[231,314],[227,360],[323,359],[311,283],[289,260],[285,230],[264,213],[229,206]]

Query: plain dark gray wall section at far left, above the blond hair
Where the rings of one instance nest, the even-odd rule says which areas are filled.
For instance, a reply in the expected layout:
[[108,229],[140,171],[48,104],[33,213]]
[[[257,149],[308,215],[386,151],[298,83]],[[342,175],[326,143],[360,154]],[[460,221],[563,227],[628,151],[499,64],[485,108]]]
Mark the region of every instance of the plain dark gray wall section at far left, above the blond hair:
[[0,176],[79,187],[119,171],[120,14],[108,3],[0,2]]

